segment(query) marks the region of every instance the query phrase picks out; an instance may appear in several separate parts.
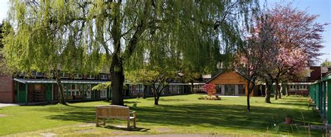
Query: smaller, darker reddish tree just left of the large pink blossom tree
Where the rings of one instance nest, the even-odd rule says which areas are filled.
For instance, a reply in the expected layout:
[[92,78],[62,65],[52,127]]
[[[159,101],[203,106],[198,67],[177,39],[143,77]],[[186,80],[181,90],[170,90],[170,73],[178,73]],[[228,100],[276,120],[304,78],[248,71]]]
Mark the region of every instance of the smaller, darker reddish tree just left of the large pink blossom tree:
[[255,89],[256,80],[263,67],[270,65],[268,57],[276,55],[276,45],[277,38],[274,37],[273,26],[267,22],[265,16],[260,18],[257,27],[247,37],[247,43],[237,51],[234,66],[247,79],[247,111],[251,111],[249,95]]

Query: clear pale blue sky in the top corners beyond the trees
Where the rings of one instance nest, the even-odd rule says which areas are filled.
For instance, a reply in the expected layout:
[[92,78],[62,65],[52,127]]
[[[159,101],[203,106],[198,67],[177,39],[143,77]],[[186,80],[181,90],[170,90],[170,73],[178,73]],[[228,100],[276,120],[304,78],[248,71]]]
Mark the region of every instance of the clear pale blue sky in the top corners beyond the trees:
[[[0,22],[7,16],[8,11],[8,1],[0,0]],[[288,3],[292,2],[293,8],[298,8],[299,10],[307,10],[309,15],[319,15],[316,22],[318,23],[331,23],[331,0],[259,0],[260,6],[263,6],[265,1],[267,6],[273,6],[274,3]],[[324,54],[320,56],[321,62],[328,58],[331,60],[331,24],[325,27],[325,32],[323,33],[323,46],[321,52]],[[316,64],[316,65],[319,65]]]

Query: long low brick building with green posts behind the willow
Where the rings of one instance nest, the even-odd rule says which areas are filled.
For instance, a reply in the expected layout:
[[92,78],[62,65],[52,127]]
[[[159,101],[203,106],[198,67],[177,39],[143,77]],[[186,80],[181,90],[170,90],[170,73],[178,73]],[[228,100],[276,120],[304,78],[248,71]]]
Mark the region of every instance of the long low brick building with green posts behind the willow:
[[[99,83],[110,81],[110,74],[68,74],[61,73],[66,102],[111,99],[111,90],[92,90]],[[123,90],[125,98],[152,97],[152,87],[143,84],[125,83],[128,89]],[[188,83],[169,83],[162,95],[189,94]],[[34,72],[32,76],[0,75],[0,103],[38,104],[59,101],[59,88],[55,79],[49,79],[43,73]]]

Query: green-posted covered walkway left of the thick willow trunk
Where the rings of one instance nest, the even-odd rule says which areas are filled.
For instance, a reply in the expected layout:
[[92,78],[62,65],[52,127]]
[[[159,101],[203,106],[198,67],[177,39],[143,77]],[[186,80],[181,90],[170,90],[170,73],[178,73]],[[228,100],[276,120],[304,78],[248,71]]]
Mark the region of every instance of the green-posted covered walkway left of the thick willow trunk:
[[[55,79],[13,79],[15,102],[18,104],[32,105],[54,103],[59,100],[59,90]],[[99,80],[70,80],[62,79],[64,98],[66,102],[80,100],[110,99],[110,89],[96,92],[93,86],[107,81]]]

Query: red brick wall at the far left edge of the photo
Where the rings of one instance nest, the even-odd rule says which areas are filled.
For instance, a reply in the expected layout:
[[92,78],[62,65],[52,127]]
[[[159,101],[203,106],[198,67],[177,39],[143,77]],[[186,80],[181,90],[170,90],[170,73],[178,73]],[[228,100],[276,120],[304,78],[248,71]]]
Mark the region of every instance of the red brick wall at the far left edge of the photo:
[[13,79],[0,75],[0,103],[13,103]]

